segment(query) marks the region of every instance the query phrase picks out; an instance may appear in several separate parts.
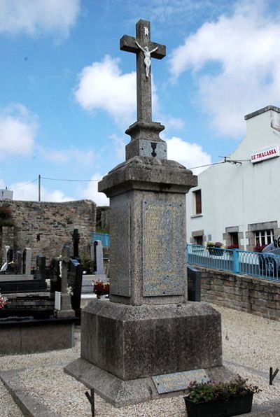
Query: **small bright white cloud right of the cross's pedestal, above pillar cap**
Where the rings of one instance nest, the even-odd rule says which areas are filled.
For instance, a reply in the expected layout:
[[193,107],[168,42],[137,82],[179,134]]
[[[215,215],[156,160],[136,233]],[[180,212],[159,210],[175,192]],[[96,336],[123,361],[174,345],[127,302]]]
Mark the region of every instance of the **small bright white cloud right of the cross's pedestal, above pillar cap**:
[[[211,155],[204,152],[197,143],[189,143],[174,136],[172,139],[165,139],[167,142],[167,158],[179,162],[186,168],[201,167],[211,164]],[[193,169],[195,175],[200,174],[205,168]]]

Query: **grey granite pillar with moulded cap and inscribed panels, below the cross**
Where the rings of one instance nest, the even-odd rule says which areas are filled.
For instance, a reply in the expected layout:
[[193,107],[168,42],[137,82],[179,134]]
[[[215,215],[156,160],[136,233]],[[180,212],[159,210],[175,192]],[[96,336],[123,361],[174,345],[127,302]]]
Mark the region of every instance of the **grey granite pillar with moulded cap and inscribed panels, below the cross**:
[[185,195],[196,183],[178,162],[139,156],[99,183],[111,206],[111,301],[186,300]]

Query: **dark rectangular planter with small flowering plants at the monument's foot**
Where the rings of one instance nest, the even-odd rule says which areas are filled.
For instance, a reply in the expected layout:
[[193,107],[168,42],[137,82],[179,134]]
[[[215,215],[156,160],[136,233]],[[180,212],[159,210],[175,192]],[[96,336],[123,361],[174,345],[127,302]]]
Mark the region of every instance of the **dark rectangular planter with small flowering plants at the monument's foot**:
[[250,413],[256,386],[237,377],[228,383],[193,381],[184,397],[188,417],[230,417]]

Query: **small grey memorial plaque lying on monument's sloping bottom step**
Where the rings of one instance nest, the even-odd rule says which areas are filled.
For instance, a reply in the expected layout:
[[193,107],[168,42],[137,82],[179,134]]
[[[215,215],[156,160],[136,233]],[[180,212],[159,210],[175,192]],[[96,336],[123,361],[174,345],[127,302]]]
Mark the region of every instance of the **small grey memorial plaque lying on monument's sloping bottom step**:
[[152,379],[159,394],[186,390],[192,381],[197,381],[197,383],[210,381],[204,369],[157,375],[152,376]]

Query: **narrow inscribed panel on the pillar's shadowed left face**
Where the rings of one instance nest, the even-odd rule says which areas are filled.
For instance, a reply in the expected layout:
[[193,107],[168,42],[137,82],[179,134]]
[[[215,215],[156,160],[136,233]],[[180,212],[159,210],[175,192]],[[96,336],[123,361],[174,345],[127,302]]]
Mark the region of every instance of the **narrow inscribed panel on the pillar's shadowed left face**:
[[130,202],[111,202],[110,216],[110,292],[130,297]]

